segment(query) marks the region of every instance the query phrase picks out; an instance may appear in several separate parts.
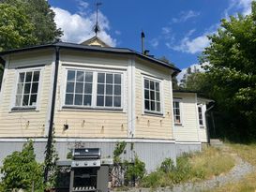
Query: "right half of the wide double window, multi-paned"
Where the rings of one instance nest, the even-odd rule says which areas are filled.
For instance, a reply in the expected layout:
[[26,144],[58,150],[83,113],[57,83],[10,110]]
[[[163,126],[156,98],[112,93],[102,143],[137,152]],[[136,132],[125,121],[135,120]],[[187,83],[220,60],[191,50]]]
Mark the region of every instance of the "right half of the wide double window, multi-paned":
[[98,73],[97,106],[121,107],[121,74]]

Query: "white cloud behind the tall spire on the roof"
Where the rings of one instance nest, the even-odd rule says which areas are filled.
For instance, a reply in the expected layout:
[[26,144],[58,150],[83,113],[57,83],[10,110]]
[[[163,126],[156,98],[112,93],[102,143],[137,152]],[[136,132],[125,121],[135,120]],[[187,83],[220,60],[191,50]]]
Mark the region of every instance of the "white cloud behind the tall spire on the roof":
[[[84,7],[86,7],[85,2]],[[87,7],[86,7],[87,8]],[[57,27],[60,27],[64,31],[64,36],[61,37],[63,41],[81,43],[84,40],[95,36],[93,32],[93,27],[96,22],[96,13],[90,13],[89,11],[84,12],[83,15],[80,13],[71,14],[68,10],[52,7],[55,12],[55,22]],[[110,30],[110,23],[108,19],[99,11],[98,12],[98,25],[100,27],[100,32],[98,37],[110,46],[116,45],[116,39],[108,34]]]

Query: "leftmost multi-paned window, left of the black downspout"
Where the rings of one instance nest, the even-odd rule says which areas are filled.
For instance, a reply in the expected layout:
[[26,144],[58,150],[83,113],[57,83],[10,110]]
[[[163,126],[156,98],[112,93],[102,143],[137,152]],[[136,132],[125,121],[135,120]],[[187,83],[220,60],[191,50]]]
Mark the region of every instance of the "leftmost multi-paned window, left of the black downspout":
[[15,107],[37,106],[39,76],[39,70],[19,72]]

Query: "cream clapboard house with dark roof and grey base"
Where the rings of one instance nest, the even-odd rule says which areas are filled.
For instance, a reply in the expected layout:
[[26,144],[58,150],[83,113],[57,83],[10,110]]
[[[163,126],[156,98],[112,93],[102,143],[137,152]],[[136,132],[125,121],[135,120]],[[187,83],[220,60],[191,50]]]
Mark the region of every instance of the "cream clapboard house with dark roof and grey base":
[[109,47],[98,37],[0,56],[0,161],[27,139],[35,140],[42,161],[53,129],[61,159],[79,146],[113,155],[115,143],[125,140],[123,157],[138,155],[149,171],[207,141],[208,100],[173,92],[172,76],[180,70],[151,56]]

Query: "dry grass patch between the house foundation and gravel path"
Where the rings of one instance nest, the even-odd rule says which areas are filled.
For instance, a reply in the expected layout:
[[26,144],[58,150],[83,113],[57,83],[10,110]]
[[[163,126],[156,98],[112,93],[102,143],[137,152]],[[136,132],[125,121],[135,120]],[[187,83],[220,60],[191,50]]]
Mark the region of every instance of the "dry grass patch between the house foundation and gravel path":
[[177,158],[176,167],[171,159],[162,162],[158,170],[143,178],[143,187],[165,187],[188,181],[200,181],[231,170],[233,157],[219,149],[207,147],[202,153],[185,154]]

